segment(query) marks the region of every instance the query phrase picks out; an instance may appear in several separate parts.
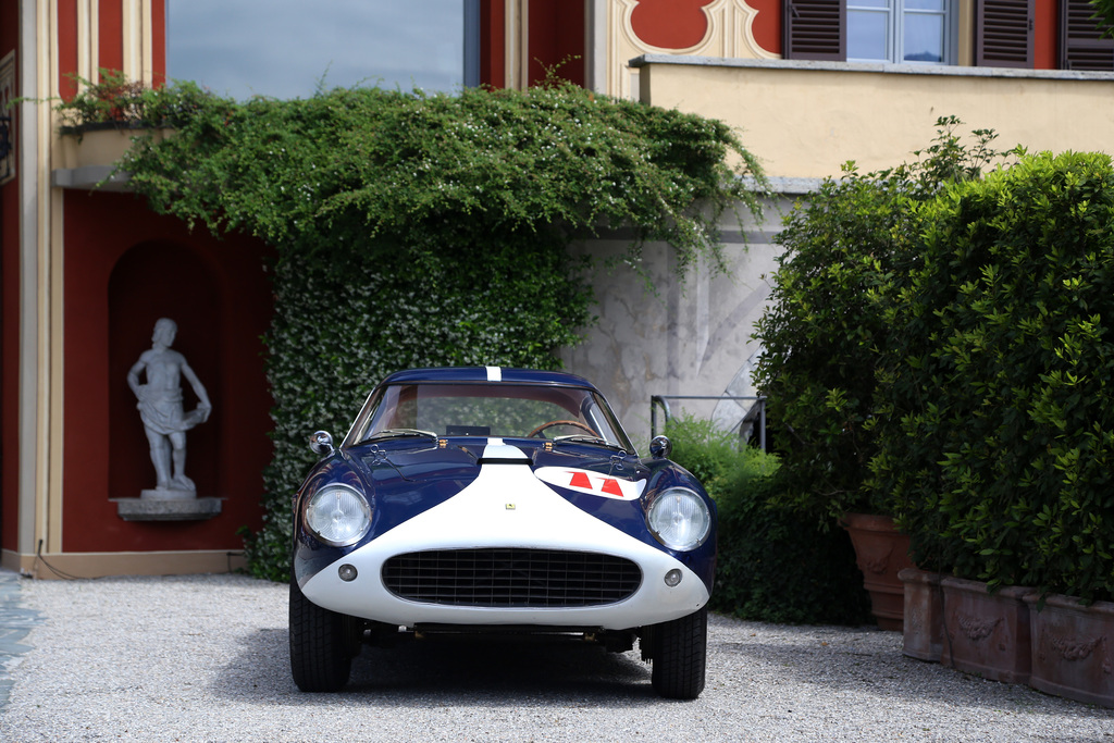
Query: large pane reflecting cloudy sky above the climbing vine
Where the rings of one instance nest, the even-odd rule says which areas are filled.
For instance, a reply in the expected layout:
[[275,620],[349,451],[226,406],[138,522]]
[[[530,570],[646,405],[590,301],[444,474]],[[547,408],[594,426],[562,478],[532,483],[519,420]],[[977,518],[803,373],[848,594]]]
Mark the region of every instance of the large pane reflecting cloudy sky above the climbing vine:
[[463,82],[460,0],[167,0],[167,75],[219,95],[305,98]]

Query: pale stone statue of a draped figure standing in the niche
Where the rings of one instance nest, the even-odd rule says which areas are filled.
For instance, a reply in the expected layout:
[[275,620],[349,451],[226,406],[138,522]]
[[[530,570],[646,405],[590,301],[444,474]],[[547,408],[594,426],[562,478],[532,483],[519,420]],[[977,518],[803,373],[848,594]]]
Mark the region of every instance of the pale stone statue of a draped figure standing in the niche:
[[[186,431],[204,423],[213,405],[197,374],[186,363],[186,358],[170,349],[178,326],[173,320],[163,317],[155,323],[152,348],[144,351],[139,361],[128,371],[128,387],[139,401],[139,417],[147,430],[150,442],[150,461],[155,465],[157,480],[155,497],[196,497],[193,480],[186,477]],[[146,383],[139,383],[139,374]],[[186,378],[197,395],[195,410],[184,413],[182,409],[182,385]],[[146,496],[150,491],[145,490]]]

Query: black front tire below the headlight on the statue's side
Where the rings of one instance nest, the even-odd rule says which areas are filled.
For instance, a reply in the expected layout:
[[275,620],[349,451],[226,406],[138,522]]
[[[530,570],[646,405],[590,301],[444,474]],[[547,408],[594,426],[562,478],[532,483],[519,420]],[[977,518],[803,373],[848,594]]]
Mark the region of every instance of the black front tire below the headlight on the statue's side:
[[[292,571],[293,573],[293,571]],[[290,667],[303,692],[338,692],[352,674],[353,622],[321,608],[290,578]]]

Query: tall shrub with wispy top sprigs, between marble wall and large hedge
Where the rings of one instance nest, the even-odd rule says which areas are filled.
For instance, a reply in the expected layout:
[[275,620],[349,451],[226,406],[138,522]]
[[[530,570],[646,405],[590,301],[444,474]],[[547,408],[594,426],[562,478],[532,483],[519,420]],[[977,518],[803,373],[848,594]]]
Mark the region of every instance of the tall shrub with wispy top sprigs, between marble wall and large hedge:
[[771,303],[756,325],[755,383],[769,399],[782,458],[779,497],[825,526],[851,511],[886,512],[864,487],[878,447],[874,370],[895,342],[887,313],[920,265],[918,213],[946,184],[977,178],[1001,157],[995,135],[955,134],[954,117],[912,164],[842,177],[785,218]]

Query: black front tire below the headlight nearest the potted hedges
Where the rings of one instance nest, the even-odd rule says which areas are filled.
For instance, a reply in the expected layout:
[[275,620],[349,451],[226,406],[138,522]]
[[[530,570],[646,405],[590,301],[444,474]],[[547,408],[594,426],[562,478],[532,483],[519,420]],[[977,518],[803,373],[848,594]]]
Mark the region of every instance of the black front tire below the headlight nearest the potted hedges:
[[654,625],[651,637],[654,691],[671,700],[700,696],[707,664],[707,607]]

